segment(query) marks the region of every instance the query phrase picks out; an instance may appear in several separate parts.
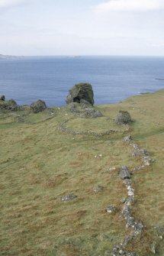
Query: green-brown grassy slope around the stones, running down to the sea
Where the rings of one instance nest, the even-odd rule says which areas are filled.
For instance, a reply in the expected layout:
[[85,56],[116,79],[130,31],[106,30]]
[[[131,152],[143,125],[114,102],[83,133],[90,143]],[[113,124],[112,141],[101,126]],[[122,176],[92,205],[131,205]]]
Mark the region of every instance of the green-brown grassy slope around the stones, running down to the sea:
[[[74,118],[66,126],[106,131],[116,128],[112,119],[119,110],[130,112],[135,120],[130,134],[156,159],[153,167],[133,177],[133,214],[147,226],[162,225],[164,90],[98,108],[105,117]],[[133,168],[139,162],[131,157],[130,147],[125,147],[124,134],[103,138],[66,134],[59,131],[59,122],[72,115],[66,109],[53,110],[50,119],[49,112],[0,115],[0,255],[99,256],[126,234],[121,217],[126,190],[117,174],[122,165]],[[18,122],[19,114],[26,123]],[[98,154],[102,157],[95,157]],[[98,184],[105,189],[95,194],[93,186]],[[60,196],[70,193],[78,198],[60,201]],[[114,215],[105,212],[111,204],[117,206]],[[151,233],[148,237],[151,240]],[[135,245],[137,256],[150,255],[147,240],[143,241]],[[157,255],[164,255],[162,251],[163,241]]]

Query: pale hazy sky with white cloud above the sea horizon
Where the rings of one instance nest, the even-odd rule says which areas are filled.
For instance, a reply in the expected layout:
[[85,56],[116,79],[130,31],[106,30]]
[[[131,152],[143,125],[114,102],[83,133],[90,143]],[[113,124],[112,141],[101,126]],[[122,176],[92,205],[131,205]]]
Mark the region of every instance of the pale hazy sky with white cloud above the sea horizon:
[[0,0],[0,53],[164,56],[164,0]]

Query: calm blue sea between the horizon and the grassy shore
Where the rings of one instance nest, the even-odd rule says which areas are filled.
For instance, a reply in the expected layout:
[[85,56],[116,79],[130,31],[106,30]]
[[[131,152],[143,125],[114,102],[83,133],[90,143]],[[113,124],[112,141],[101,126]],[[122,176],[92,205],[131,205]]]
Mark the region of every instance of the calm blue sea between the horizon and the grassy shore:
[[164,88],[163,57],[24,57],[0,60],[0,95],[20,105],[65,105],[70,87],[91,83],[95,104]]

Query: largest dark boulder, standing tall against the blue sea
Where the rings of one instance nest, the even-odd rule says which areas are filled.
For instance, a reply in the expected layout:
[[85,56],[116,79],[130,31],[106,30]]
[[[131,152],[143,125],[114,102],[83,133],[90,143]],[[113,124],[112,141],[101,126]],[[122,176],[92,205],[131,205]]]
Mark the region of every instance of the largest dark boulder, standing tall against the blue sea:
[[78,83],[69,89],[69,95],[66,97],[66,104],[72,102],[82,103],[85,100],[85,102],[94,105],[93,97],[94,93],[90,83]]

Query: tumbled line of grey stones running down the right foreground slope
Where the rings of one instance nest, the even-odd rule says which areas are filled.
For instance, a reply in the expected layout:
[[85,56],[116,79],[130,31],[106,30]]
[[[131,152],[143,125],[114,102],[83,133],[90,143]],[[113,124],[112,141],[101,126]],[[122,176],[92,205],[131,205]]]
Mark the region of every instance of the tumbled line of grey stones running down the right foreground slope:
[[[147,166],[150,166],[155,160],[153,160],[149,153],[146,151],[146,149],[139,147],[137,144],[133,142],[133,138],[131,135],[127,135],[124,137],[124,142],[129,144],[133,147],[133,153],[132,157],[140,157],[140,160],[143,164],[140,164],[138,167],[133,168],[133,171],[142,170]],[[122,215],[126,221],[126,227],[130,228],[130,233],[124,238],[124,241],[113,248],[111,251],[111,256],[119,256],[119,255],[125,255],[125,256],[135,256],[136,254],[134,252],[127,252],[126,247],[134,239],[137,237],[137,235],[140,235],[143,231],[144,225],[141,222],[137,222],[132,213],[132,206],[134,203],[134,197],[135,197],[135,190],[133,188],[132,180],[131,180],[131,173],[128,170],[128,167],[123,166],[121,167],[121,172],[119,174],[119,177],[121,180],[123,180],[124,185],[127,189],[127,198],[121,199],[121,203],[124,204],[122,209]],[[158,227],[154,227],[154,229],[160,230]],[[164,234],[164,228],[162,230],[162,233]],[[159,238],[162,237],[162,234],[159,234]],[[156,245],[150,245],[150,252],[153,254],[156,254]]]

